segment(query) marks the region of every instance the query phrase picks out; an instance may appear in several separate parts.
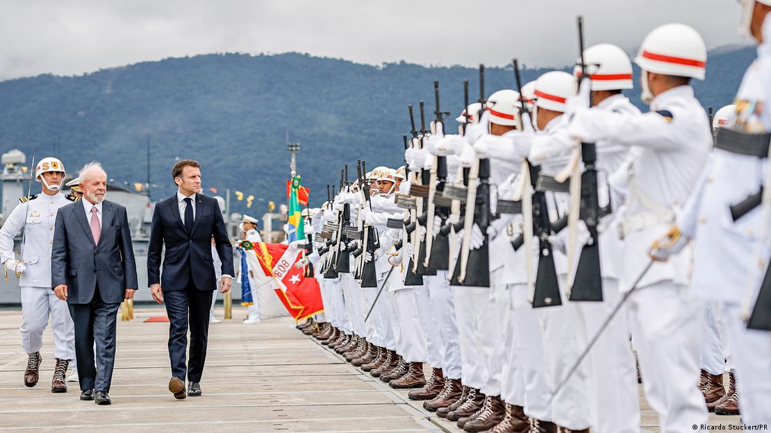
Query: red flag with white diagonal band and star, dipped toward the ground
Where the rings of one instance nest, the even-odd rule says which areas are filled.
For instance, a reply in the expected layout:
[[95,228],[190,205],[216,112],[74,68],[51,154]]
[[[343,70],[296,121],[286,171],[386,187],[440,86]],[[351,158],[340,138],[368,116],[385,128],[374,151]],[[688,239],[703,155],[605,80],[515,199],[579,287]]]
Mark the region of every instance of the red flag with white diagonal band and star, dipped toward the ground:
[[304,268],[295,267],[302,250],[283,243],[258,243],[254,247],[268,277],[276,277],[281,286],[275,289],[281,304],[295,321],[324,311],[322,291],[314,277],[305,278]]

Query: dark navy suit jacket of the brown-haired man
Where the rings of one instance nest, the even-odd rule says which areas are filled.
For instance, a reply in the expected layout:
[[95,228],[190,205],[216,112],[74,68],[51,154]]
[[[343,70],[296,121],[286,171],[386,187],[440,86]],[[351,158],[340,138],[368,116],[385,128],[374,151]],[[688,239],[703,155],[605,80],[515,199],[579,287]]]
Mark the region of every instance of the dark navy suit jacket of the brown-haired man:
[[[212,257],[211,237],[214,236],[217,255],[222,261],[222,274],[234,275],[233,247],[227,237],[220,205],[212,197],[195,195],[196,208],[193,230],[187,229],[180,217],[177,194],[156,203],[150,226],[150,246],[147,250],[148,285],[159,284],[163,291],[185,290],[190,278],[198,290],[217,288]],[[160,254],[163,246],[163,273]]]

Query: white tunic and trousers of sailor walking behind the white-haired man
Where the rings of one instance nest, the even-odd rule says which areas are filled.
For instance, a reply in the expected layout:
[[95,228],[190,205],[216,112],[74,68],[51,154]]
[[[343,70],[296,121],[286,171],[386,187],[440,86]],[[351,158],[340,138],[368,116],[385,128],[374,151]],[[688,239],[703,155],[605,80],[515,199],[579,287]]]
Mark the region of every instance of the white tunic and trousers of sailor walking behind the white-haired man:
[[[51,248],[54,223],[60,207],[72,203],[64,194],[38,194],[19,203],[0,228],[0,261],[15,258],[13,238],[26,230],[22,258],[27,268],[20,278],[22,290],[22,348],[34,353],[42,347],[42,335],[52,319],[54,356],[75,359],[75,328],[67,303],[54,294],[51,287]],[[12,272],[12,270],[8,270]]]

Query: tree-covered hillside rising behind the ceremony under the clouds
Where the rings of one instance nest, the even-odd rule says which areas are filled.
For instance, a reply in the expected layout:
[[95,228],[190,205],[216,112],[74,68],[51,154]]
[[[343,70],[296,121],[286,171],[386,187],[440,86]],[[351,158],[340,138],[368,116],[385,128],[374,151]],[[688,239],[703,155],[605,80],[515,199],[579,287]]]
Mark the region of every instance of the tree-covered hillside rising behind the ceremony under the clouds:
[[[704,106],[726,105],[754,49],[722,49],[709,58],[708,79],[697,82]],[[525,81],[545,69],[526,69]],[[205,187],[256,197],[255,216],[268,200],[282,203],[289,173],[286,133],[301,143],[298,172],[311,203],[325,200],[343,163],[366,159],[399,166],[406,105],[426,101],[433,118],[433,80],[443,109],[463,108],[464,79],[479,97],[476,69],[408,63],[379,67],[310,55],[198,55],[164,59],[84,76],[36,76],[0,82],[0,151],[19,148],[38,158],[56,153],[71,173],[99,160],[116,182],[146,182],[150,140],[153,200],[173,193],[175,158],[198,159]],[[511,68],[488,68],[487,92],[513,86]],[[638,102],[638,92],[631,92]],[[352,170],[355,173],[355,170]]]

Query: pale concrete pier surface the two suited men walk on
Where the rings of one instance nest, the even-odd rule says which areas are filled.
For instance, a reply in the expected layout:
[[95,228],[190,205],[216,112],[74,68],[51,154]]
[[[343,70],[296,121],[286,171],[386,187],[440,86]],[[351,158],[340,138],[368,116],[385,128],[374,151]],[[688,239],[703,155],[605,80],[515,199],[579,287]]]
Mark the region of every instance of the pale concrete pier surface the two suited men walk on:
[[[66,394],[51,393],[50,328],[39,384],[25,387],[22,313],[0,311],[0,431],[461,431],[410,401],[408,391],[389,388],[305,336],[290,318],[242,324],[240,310],[210,325],[204,394],[175,400],[167,389],[169,325],[145,322],[165,315],[163,307],[137,307],[133,321],[119,317],[113,404],[97,406],[79,401],[76,382]],[[641,403],[642,428],[658,431],[658,416]],[[712,425],[739,422],[710,415]]]

